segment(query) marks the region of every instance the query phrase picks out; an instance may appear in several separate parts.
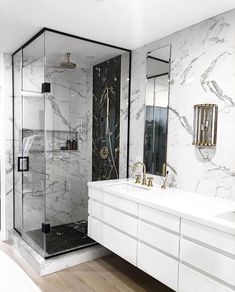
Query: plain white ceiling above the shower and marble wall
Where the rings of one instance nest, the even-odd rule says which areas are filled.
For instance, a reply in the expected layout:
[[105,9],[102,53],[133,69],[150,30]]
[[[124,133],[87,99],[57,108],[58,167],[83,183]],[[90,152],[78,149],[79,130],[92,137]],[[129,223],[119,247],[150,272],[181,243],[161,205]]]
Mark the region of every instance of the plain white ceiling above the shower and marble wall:
[[0,0],[0,51],[45,26],[134,49],[233,8],[234,0]]

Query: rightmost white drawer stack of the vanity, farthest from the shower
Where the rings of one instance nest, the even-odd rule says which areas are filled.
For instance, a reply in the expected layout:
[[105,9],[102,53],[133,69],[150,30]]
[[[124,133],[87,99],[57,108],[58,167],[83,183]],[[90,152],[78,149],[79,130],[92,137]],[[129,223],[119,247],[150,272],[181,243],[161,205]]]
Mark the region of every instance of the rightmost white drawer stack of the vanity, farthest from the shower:
[[184,219],[181,236],[179,292],[235,291],[235,236]]

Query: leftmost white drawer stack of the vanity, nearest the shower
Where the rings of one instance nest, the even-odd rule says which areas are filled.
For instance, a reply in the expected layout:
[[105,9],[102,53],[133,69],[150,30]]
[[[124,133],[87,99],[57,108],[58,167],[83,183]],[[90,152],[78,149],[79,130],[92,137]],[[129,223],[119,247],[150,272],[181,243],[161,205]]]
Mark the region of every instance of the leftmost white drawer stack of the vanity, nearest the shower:
[[137,203],[89,188],[88,235],[136,266]]

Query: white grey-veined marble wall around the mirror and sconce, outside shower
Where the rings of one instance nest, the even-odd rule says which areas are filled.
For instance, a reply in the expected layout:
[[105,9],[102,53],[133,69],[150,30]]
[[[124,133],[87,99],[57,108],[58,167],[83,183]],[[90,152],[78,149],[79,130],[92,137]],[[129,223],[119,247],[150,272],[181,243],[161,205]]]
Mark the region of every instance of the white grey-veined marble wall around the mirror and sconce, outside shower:
[[[171,184],[235,200],[235,10],[133,51],[130,167],[143,157],[146,54],[171,44],[167,163]],[[219,107],[210,159],[192,146],[193,105]],[[161,181],[159,177],[156,177]]]

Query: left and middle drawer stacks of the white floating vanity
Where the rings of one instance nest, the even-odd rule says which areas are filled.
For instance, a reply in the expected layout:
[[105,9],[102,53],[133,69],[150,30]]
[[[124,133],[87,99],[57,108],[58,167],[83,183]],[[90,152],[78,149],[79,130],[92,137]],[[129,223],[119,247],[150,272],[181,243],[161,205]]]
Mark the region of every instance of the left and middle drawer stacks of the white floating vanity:
[[180,218],[89,188],[88,235],[177,290]]

